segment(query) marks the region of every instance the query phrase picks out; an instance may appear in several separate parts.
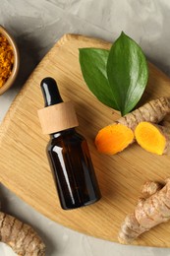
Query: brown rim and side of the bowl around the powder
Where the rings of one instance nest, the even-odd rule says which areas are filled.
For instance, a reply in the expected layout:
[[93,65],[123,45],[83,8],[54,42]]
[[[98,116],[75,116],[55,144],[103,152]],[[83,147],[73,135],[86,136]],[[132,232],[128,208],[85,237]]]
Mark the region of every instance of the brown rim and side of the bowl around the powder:
[[[3,34],[7,38],[9,44],[12,46],[13,53],[14,53],[14,64],[13,64],[11,75],[7,79],[5,84],[0,88],[0,95],[2,95],[9,88],[11,88],[13,86],[14,81],[16,80],[16,77],[18,75],[20,60],[19,60],[19,50],[18,50],[17,44],[16,44],[13,36],[9,32],[7,32],[6,29],[3,28],[2,26],[0,26],[0,33]],[[0,76],[1,76],[1,74],[0,74]]]

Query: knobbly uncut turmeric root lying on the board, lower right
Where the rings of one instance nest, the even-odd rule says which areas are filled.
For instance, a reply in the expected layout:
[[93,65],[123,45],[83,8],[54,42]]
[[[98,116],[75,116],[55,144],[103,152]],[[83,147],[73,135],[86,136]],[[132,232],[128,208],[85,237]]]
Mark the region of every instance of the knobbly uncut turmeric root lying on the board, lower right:
[[143,191],[149,191],[148,197],[142,198],[134,213],[126,217],[118,235],[120,243],[132,243],[144,231],[170,220],[170,178],[163,187],[153,183],[144,184]]

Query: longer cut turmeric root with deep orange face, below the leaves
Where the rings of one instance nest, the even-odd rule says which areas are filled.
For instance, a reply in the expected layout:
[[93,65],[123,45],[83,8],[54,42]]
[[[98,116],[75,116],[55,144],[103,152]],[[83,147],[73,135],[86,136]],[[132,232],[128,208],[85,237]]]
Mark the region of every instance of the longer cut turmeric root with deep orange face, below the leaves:
[[100,153],[114,155],[134,142],[133,132],[143,121],[158,123],[170,112],[170,98],[150,100],[140,108],[126,114],[113,124],[101,129],[95,138]]

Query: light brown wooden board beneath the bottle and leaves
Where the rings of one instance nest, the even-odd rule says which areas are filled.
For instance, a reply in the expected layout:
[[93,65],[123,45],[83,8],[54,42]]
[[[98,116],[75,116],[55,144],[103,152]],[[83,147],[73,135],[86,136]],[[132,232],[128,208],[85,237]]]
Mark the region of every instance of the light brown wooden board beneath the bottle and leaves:
[[[110,44],[82,35],[64,35],[28,78],[0,128],[0,178],[30,206],[49,219],[103,239],[117,241],[125,216],[132,212],[147,179],[162,181],[169,175],[170,158],[155,156],[134,144],[116,156],[97,153],[97,131],[119,117],[93,96],[82,77],[79,48],[109,48]],[[41,134],[37,109],[43,107],[39,89],[44,77],[53,77],[64,100],[73,100],[95,167],[102,199],[73,211],[60,208],[45,155],[48,136]],[[149,64],[149,83],[141,103],[157,96],[170,96],[170,80]],[[170,222],[161,224],[135,242],[138,245],[170,247]]]

